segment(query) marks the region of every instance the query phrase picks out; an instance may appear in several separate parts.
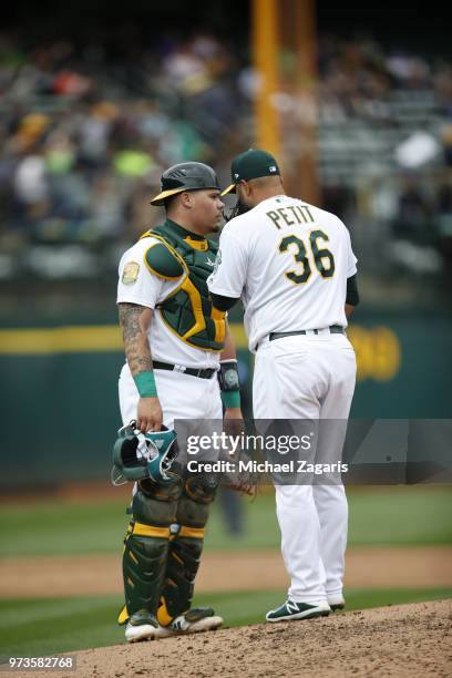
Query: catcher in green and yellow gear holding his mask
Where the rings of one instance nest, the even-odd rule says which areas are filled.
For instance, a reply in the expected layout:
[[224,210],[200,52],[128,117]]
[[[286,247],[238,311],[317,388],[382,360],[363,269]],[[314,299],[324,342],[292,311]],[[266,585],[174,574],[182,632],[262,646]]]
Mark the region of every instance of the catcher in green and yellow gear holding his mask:
[[115,464],[136,480],[119,618],[129,643],[222,625],[213,609],[191,607],[218,481],[177,463],[173,429],[176,419],[222,420],[222,400],[225,419],[242,419],[235,349],[206,284],[217,253],[206,234],[219,229],[224,207],[217,176],[202,163],[174,165],[151,204],[163,205],[166,219],[127,249],[119,268],[126,428]]

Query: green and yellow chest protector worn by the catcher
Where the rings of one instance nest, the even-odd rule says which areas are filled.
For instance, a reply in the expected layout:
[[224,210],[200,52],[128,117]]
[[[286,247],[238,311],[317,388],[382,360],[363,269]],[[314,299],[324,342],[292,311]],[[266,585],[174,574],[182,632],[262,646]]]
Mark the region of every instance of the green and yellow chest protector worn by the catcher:
[[[158,265],[150,261],[152,254],[146,255],[147,265],[155,275],[174,280],[178,277],[174,275],[177,273],[174,269],[181,270],[182,267],[181,284],[157,307],[163,320],[182,341],[193,348],[222,351],[226,331],[225,314],[213,308],[207,288],[218,247],[205,238],[195,239],[171,222],[156,226],[146,236],[162,240],[165,246],[165,251],[162,246],[156,246]],[[158,247],[161,253],[157,251]]]

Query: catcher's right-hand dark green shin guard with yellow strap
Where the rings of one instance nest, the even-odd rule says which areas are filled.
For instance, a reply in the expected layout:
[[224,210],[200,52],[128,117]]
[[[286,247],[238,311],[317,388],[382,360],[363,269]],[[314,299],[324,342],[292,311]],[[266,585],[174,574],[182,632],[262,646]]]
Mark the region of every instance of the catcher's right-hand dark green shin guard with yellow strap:
[[204,545],[209,504],[218,482],[213,476],[189,476],[177,502],[176,525],[170,552],[157,619],[162,626],[186,613],[192,604],[195,577]]

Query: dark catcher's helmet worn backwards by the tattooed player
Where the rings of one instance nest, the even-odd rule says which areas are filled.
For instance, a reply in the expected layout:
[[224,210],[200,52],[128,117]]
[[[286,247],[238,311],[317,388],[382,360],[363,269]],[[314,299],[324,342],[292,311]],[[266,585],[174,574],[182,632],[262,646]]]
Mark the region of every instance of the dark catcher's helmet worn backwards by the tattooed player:
[[218,177],[212,167],[204,163],[179,163],[162,174],[161,192],[151,201],[151,205],[163,205],[165,198],[184,191],[220,191]]

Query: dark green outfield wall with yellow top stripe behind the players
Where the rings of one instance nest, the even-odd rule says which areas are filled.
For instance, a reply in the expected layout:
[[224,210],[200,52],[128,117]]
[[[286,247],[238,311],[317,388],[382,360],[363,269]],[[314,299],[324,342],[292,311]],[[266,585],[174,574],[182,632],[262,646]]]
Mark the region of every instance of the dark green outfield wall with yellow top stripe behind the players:
[[[107,479],[121,425],[123,364],[114,317],[9,318],[0,329],[1,489]],[[31,327],[32,325],[32,327]],[[232,325],[250,408],[251,358]],[[450,418],[452,316],[360,312],[349,328],[358,358],[355,418]]]

